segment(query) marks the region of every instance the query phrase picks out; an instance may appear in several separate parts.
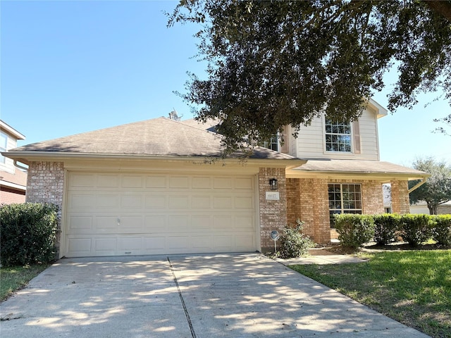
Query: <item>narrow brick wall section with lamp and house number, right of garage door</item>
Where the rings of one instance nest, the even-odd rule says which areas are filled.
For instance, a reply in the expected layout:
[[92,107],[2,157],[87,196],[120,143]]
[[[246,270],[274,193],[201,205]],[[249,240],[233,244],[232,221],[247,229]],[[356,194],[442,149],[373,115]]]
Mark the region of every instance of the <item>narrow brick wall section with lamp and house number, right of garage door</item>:
[[[266,192],[271,192],[269,180],[276,178],[280,199],[278,201],[266,200]],[[274,190],[273,190],[274,192]],[[285,181],[285,168],[259,169],[259,215],[261,251],[274,251],[274,241],[271,231],[282,232],[287,224],[287,189]]]

